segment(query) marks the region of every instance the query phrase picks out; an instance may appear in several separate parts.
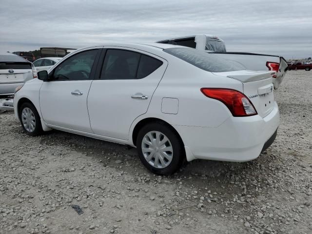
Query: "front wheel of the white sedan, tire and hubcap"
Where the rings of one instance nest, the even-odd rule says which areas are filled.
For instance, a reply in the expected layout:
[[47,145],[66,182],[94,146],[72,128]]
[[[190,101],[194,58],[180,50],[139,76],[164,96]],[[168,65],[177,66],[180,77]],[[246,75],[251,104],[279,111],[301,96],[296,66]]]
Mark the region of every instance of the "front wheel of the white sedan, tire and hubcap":
[[42,134],[40,116],[32,103],[25,102],[21,104],[19,117],[21,126],[27,135],[38,136]]

